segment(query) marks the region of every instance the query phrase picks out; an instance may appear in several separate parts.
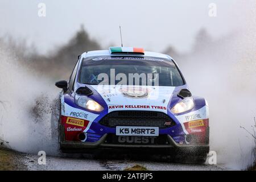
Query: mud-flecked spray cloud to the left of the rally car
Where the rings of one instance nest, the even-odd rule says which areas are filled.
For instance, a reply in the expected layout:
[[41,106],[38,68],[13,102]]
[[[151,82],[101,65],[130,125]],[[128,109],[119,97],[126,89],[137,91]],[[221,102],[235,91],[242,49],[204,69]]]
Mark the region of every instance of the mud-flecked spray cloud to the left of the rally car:
[[24,67],[23,62],[3,47],[0,59],[3,144],[21,152],[37,154],[43,150],[57,154],[57,118],[53,117],[57,117],[54,113],[57,113],[58,90],[46,76]]

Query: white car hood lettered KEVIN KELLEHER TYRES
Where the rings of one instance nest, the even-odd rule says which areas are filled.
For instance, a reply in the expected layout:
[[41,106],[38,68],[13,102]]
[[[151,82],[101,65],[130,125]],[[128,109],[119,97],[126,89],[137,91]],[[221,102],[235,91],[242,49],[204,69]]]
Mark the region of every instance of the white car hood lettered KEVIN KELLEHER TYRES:
[[101,95],[109,111],[154,110],[167,113],[175,86],[91,85]]

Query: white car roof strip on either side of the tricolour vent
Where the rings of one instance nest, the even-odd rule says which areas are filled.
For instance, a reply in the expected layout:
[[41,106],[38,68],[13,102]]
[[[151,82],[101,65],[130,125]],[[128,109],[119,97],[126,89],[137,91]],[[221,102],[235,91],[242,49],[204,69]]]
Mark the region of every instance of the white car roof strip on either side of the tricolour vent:
[[[119,53],[118,55],[123,55],[123,56],[134,56],[134,53]],[[110,53],[109,50],[99,50],[99,51],[88,51],[82,53],[81,57],[94,57],[94,56],[113,56],[113,54]],[[137,55],[138,56],[138,55]],[[150,52],[150,51],[145,51],[144,55],[139,55],[139,56],[149,56],[149,57],[158,57],[162,59],[172,59],[171,56],[163,54],[163,53],[158,53],[158,52]]]

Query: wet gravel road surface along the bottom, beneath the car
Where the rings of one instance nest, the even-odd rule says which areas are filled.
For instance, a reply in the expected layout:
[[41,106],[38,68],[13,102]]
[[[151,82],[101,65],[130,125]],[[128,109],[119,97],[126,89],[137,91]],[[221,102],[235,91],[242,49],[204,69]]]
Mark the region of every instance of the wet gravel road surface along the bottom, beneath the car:
[[38,164],[37,155],[23,155],[21,159],[28,170],[123,170],[135,165],[146,167],[148,170],[228,170],[221,165],[209,164],[179,164],[165,162],[165,159],[145,158],[143,160],[126,159],[93,159],[90,156],[55,157],[47,156],[46,165]]

